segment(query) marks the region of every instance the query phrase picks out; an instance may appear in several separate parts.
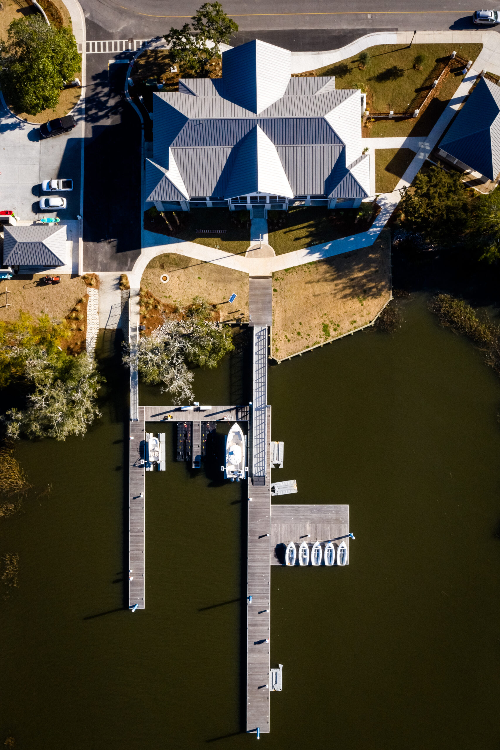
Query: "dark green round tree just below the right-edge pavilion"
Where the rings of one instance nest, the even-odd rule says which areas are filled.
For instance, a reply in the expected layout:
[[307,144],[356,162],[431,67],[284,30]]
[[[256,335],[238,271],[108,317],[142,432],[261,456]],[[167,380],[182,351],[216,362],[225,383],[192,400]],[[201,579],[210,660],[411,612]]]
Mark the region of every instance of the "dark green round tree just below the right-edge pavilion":
[[459,172],[431,166],[403,187],[400,201],[403,226],[420,233],[428,242],[446,242],[469,225],[469,192]]

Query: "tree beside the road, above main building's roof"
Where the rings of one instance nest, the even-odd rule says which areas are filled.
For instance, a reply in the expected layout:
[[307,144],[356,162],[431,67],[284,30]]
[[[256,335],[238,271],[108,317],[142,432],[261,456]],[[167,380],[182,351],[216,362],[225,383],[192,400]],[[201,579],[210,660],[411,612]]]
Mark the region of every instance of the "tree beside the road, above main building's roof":
[[165,34],[172,60],[186,71],[206,73],[208,62],[220,58],[220,44],[228,43],[238,24],[223,11],[220,2],[205,2],[191,18],[191,24],[170,28]]

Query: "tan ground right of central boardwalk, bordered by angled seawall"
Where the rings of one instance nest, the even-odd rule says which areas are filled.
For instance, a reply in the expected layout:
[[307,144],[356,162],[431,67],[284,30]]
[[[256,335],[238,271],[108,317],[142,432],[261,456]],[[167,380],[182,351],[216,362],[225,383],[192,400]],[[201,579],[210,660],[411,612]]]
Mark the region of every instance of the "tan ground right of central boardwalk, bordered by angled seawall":
[[285,359],[371,323],[391,296],[391,232],[371,248],[273,275],[272,356]]

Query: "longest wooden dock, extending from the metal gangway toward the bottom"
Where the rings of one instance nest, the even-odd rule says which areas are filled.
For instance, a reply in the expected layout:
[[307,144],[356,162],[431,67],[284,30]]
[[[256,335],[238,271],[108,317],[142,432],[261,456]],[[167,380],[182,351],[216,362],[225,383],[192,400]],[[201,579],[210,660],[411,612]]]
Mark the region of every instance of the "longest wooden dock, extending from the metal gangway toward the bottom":
[[[271,407],[267,407],[271,435]],[[269,731],[271,643],[271,451],[266,452],[267,484],[248,481],[247,731]],[[250,499],[251,498],[251,499]],[[248,602],[248,599],[247,599]]]

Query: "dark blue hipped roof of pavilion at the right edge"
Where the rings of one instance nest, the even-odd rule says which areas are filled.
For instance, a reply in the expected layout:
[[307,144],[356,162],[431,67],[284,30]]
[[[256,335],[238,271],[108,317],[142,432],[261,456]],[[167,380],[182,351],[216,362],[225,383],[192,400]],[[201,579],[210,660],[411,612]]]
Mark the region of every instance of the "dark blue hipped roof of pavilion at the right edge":
[[500,172],[500,86],[481,78],[439,147],[494,180]]

